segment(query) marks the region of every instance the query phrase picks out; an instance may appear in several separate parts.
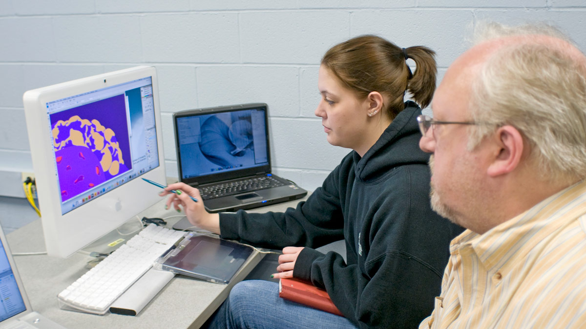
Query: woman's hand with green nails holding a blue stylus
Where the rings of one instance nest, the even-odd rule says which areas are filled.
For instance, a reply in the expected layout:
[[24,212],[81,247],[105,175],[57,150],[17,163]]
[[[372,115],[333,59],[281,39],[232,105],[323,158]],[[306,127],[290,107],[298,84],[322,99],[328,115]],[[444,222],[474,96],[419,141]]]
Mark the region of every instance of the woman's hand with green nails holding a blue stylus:
[[[176,190],[177,193],[172,193],[171,190]],[[165,204],[165,209],[173,207],[180,212],[181,208],[179,206],[181,206],[193,226],[220,234],[220,215],[210,214],[206,211],[206,208],[203,207],[203,200],[199,190],[185,183],[175,183],[165,187],[165,190],[159,193],[159,196],[166,195],[170,196]],[[196,198],[198,201],[193,201],[189,196]]]

